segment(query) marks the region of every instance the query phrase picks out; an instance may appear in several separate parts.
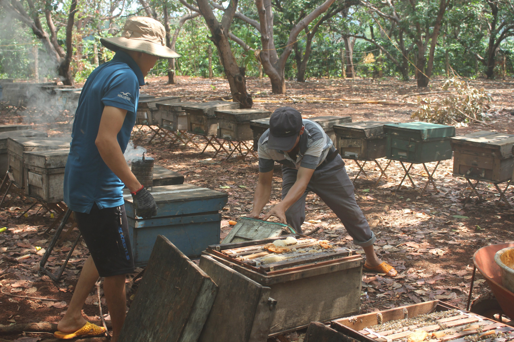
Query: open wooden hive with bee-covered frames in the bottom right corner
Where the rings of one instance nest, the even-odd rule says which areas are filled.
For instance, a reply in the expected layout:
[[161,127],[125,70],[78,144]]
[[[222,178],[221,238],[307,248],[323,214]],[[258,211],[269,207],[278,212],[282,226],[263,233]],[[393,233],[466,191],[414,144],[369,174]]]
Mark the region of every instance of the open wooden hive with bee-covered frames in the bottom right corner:
[[331,328],[350,337],[348,342],[406,341],[411,336],[444,342],[514,339],[514,327],[439,300],[337,319]]

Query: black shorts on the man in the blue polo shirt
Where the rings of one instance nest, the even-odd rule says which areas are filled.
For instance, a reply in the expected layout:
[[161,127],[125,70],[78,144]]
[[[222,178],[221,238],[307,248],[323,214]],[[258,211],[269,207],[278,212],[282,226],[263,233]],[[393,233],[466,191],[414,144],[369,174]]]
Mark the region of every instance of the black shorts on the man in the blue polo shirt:
[[100,277],[134,273],[124,205],[99,209],[93,204],[89,214],[76,212],[75,220]]

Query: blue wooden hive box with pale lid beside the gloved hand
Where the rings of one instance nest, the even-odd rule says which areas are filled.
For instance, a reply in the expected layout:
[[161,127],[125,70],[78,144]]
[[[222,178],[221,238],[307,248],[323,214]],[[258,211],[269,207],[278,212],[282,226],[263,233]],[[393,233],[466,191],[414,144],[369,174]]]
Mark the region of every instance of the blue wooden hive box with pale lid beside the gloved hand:
[[157,216],[150,219],[134,215],[134,203],[127,189],[125,211],[135,265],[146,265],[157,238],[166,236],[190,258],[199,257],[208,245],[219,243],[222,216],[219,211],[228,195],[191,184],[155,186],[152,195]]

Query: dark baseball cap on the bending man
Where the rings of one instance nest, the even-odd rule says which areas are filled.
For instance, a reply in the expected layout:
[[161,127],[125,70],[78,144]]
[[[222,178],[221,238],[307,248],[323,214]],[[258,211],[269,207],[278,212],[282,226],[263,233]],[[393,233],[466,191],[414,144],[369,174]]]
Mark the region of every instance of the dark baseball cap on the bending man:
[[302,126],[302,115],[295,108],[276,109],[269,118],[268,148],[288,151],[295,147]]

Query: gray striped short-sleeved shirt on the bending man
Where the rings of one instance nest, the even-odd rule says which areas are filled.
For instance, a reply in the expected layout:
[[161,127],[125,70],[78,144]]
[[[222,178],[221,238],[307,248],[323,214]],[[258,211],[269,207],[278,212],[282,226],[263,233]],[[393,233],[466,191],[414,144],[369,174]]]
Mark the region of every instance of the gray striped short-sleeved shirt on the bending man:
[[307,119],[303,119],[305,131],[300,136],[300,151],[296,160],[292,160],[287,152],[268,148],[269,129],[259,139],[259,172],[269,172],[275,162],[298,169],[300,166],[315,169],[328,155],[332,140],[326,135],[321,126]]

